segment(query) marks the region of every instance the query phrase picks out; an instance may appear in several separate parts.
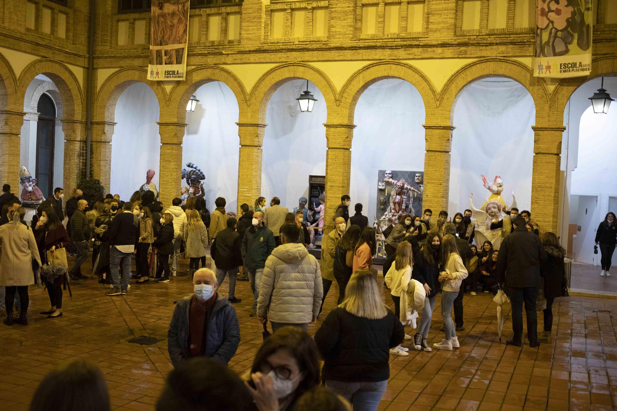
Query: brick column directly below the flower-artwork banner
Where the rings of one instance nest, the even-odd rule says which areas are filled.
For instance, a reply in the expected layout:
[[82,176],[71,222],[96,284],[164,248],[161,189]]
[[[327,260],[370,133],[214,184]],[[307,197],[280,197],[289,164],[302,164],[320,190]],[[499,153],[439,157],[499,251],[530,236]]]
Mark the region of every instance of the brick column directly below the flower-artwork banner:
[[531,177],[531,219],[540,231],[557,233],[562,126],[531,127],[534,130],[534,164]]

